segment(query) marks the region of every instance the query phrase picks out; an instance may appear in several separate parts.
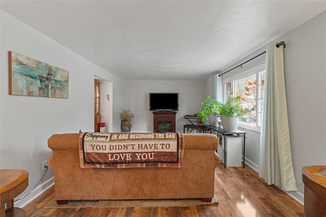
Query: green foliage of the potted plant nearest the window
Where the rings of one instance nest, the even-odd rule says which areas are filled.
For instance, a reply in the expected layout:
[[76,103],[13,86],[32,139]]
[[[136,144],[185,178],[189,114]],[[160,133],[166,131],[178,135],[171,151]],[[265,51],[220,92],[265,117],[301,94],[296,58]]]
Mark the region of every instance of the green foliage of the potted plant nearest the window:
[[242,117],[244,110],[241,107],[239,97],[229,97],[225,103],[222,103],[219,107],[219,112],[221,116],[233,117],[238,116]]

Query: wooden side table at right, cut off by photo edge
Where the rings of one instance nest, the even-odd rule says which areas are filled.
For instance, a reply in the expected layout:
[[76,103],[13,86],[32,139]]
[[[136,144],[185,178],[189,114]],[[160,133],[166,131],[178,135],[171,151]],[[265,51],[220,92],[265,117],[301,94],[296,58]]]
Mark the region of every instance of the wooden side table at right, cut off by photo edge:
[[302,168],[305,183],[305,216],[326,216],[326,178],[315,173],[326,170],[326,166]]

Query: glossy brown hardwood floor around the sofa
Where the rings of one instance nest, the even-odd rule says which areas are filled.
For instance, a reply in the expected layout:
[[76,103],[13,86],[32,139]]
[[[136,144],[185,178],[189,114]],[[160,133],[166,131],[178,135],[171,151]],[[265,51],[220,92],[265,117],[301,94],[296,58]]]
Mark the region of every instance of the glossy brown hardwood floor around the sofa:
[[215,169],[219,204],[193,207],[42,208],[54,198],[51,187],[24,207],[27,216],[304,216],[304,207],[246,166]]

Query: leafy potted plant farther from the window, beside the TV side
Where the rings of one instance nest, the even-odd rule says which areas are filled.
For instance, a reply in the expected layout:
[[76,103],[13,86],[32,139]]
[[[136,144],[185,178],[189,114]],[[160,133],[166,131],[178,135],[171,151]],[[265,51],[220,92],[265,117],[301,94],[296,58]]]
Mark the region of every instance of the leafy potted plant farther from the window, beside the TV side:
[[204,101],[202,102],[202,110],[204,114],[202,116],[205,116],[208,118],[208,122],[210,126],[218,127],[219,126],[219,107],[221,103],[213,98],[211,98],[210,95],[207,95],[204,98]]

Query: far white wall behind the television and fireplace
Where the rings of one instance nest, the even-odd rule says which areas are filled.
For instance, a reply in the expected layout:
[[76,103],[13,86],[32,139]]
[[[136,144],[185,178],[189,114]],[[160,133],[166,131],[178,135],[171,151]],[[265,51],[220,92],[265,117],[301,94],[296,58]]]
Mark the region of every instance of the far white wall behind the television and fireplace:
[[[205,81],[124,81],[125,108],[134,113],[131,131],[153,132],[153,113],[145,108],[150,92],[178,92],[179,111],[176,114],[176,131],[183,132],[183,116],[200,111],[205,95]],[[121,111],[120,111],[121,112]]]

